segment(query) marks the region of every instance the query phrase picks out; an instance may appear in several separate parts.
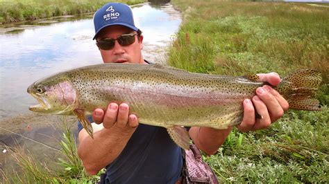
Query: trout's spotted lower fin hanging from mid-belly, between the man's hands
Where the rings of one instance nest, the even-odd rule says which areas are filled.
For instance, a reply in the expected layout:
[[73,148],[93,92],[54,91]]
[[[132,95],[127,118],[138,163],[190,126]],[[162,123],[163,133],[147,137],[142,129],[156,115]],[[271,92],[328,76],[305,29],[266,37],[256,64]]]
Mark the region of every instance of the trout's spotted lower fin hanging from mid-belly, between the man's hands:
[[181,148],[189,149],[189,133],[184,127],[167,127],[167,131],[172,140]]

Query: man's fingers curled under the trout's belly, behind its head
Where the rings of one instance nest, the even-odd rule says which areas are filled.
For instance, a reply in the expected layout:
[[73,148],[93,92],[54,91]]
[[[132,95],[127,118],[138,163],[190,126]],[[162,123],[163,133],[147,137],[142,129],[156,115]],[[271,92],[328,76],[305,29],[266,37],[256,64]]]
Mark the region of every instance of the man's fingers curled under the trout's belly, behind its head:
[[92,118],[96,124],[103,122],[103,127],[110,129],[115,122],[117,127],[124,129],[125,127],[135,128],[138,126],[137,116],[135,114],[129,115],[128,104],[110,103],[108,109],[104,112],[103,109],[95,109]]

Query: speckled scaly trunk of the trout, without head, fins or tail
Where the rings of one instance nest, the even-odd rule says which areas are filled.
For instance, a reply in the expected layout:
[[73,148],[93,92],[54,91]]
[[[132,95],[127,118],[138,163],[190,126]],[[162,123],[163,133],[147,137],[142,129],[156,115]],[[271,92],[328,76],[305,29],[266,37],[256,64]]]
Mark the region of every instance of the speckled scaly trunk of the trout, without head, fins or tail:
[[[235,117],[242,115],[242,100],[251,98],[262,84],[246,86],[246,80],[239,77],[191,75],[164,67],[129,71],[120,66],[111,66],[115,75],[107,68],[85,68],[69,76],[78,91],[83,91],[81,102],[89,113],[94,107],[106,109],[108,102],[127,102],[140,122],[149,125],[208,125],[218,129],[240,122],[241,116]],[[81,75],[85,76],[83,83]]]

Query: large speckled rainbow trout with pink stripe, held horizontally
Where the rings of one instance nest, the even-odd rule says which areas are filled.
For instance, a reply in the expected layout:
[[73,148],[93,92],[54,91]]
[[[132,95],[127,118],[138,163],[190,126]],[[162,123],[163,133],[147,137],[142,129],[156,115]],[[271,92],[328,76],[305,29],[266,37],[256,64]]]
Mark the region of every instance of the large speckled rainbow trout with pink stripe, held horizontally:
[[[88,134],[86,116],[110,102],[126,102],[140,123],[165,127],[180,147],[188,149],[182,127],[227,129],[242,121],[242,102],[263,86],[258,75],[243,77],[189,73],[160,64],[98,64],[75,68],[38,80],[28,87],[40,104],[30,110],[77,116]],[[275,89],[290,109],[319,110],[314,98],[321,73],[296,71]]]

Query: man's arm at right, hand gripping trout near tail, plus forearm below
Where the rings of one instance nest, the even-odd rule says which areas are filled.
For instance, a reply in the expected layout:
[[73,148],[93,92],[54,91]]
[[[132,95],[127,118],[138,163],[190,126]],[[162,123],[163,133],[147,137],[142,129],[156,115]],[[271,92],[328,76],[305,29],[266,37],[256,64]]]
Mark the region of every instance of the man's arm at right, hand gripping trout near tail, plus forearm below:
[[[280,77],[277,73],[261,73],[258,76],[260,76],[260,81],[269,82],[273,86],[280,83]],[[253,99],[244,100],[243,105],[244,118],[237,128],[244,132],[266,129],[272,122],[283,116],[284,111],[289,107],[288,102],[270,86],[258,88]],[[255,105],[255,108],[253,105]],[[262,119],[255,118],[255,111],[262,116]],[[206,154],[215,154],[231,130],[232,127],[223,130],[208,127],[191,127],[189,136],[194,141],[196,147],[205,151]]]

